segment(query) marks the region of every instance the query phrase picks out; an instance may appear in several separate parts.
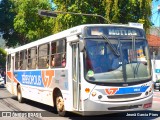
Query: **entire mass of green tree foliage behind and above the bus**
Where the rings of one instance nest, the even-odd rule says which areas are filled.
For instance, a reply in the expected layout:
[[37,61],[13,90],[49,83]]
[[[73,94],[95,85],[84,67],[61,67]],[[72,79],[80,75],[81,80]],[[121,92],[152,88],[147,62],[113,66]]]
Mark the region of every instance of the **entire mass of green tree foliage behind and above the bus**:
[[57,11],[98,14],[100,17],[59,14],[41,17],[38,9],[51,10],[49,0],[1,0],[0,31],[7,46],[23,45],[81,24],[143,23],[147,30],[152,0],[53,0]]

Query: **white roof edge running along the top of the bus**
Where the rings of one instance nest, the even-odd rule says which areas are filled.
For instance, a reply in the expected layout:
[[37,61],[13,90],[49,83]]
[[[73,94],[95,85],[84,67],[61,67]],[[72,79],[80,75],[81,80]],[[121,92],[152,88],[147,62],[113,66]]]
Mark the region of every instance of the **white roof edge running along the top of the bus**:
[[12,51],[10,51],[8,53],[15,53],[17,51],[32,48],[32,47],[35,47],[37,45],[41,45],[41,44],[44,44],[44,43],[47,43],[47,42],[51,42],[51,41],[58,40],[58,39],[63,39],[63,38],[68,37],[68,36],[79,35],[79,34],[82,33],[82,29],[86,26],[119,26],[119,27],[137,28],[137,27],[129,26],[128,24],[84,24],[84,25],[79,25],[79,26],[76,26],[76,27],[72,27],[72,28],[64,30],[62,32],[59,32],[59,33],[44,37],[42,39],[39,39],[37,41],[28,43],[26,45],[17,47],[15,49],[12,49]]

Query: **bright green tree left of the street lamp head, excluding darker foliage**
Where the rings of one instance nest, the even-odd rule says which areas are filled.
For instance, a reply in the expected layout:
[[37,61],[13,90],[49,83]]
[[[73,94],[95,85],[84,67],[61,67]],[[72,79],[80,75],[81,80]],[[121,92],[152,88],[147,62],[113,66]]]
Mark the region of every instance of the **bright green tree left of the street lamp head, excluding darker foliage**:
[[53,33],[54,20],[41,17],[38,9],[51,10],[48,0],[17,0],[14,29],[22,35],[21,40],[26,44]]

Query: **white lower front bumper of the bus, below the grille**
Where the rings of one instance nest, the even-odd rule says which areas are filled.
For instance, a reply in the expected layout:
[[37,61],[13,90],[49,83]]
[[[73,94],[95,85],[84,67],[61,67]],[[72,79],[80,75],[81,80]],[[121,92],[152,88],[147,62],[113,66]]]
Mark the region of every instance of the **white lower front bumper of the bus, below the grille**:
[[[144,104],[152,103],[153,95],[146,98],[127,102],[99,102],[89,99],[84,101],[82,115],[102,115],[109,113],[145,110]],[[151,106],[147,109],[150,109]]]

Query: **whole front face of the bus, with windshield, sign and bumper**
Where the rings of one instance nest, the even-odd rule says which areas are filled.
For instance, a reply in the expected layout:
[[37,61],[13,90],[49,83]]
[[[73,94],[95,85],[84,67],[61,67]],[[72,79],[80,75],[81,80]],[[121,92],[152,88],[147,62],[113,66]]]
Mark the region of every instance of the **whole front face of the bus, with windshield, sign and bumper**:
[[82,99],[86,111],[141,110],[152,105],[151,62],[144,31],[86,27]]

